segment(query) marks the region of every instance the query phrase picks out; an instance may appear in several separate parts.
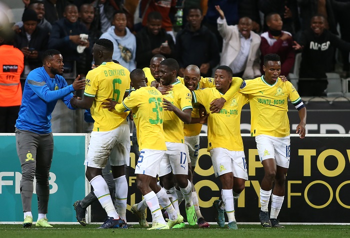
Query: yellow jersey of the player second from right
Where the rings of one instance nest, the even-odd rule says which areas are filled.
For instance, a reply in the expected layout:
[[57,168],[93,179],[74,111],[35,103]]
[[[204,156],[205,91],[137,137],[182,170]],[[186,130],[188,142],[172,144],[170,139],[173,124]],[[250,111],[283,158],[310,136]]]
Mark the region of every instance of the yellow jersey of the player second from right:
[[[192,91],[193,101],[202,104],[209,111],[210,102],[220,98],[222,93],[216,88],[204,88]],[[240,114],[248,97],[236,92],[232,99],[223,104],[219,113],[208,116],[208,151],[212,148],[226,148],[231,151],[243,151],[240,135]]]

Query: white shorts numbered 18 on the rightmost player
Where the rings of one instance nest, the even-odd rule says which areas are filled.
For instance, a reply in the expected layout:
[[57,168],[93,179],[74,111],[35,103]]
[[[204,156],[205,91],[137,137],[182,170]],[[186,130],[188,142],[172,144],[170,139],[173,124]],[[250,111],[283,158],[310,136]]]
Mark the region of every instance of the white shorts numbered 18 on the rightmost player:
[[290,158],[290,136],[274,137],[265,134],[255,136],[260,161],[274,158],[278,166],[288,168]]

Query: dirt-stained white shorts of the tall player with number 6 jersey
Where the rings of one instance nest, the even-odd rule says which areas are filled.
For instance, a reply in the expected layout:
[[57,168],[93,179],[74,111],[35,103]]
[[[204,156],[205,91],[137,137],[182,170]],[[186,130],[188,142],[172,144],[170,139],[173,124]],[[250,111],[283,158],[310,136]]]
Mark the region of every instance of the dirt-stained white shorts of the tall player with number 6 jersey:
[[91,131],[84,164],[104,168],[108,156],[112,166],[130,165],[130,129],[127,123],[110,131]]

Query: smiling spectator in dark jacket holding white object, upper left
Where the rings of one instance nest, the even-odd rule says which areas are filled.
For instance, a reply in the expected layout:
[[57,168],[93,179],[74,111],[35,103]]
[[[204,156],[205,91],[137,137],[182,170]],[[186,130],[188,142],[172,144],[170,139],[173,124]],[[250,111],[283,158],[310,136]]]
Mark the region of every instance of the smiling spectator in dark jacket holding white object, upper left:
[[48,47],[57,49],[64,55],[64,72],[71,72],[73,61],[79,59],[78,46],[86,47],[84,50],[90,50],[89,41],[80,37],[80,34],[88,34],[88,31],[83,23],[77,21],[78,9],[75,5],[67,5],[63,15],[64,18],[52,24]]

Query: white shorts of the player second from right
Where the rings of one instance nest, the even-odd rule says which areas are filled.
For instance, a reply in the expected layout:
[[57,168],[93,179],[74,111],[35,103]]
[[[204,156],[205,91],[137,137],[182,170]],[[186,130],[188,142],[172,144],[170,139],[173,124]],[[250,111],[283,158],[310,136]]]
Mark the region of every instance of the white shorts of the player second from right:
[[209,150],[215,176],[233,172],[234,177],[248,180],[244,151],[231,151],[225,148]]

